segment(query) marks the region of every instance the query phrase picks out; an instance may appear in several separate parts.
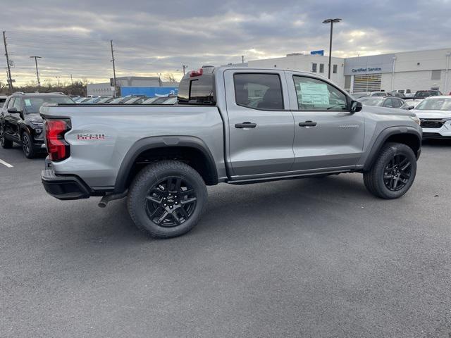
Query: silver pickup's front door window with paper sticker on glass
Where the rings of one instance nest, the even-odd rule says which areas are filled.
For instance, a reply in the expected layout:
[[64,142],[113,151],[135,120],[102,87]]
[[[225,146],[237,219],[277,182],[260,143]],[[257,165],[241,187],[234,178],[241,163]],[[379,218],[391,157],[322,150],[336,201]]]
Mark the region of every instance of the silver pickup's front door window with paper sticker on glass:
[[299,111],[345,111],[346,95],[319,79],[293,76]]

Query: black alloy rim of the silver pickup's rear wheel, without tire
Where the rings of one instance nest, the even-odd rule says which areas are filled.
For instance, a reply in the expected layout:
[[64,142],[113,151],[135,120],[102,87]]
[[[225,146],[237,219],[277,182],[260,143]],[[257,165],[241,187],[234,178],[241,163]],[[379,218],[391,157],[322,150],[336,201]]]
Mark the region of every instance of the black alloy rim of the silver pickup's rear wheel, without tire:
[[185,223],[194,213],[197,196],[182,177],[165,177],[146,196],[146,212],[159,227],[176,227]]

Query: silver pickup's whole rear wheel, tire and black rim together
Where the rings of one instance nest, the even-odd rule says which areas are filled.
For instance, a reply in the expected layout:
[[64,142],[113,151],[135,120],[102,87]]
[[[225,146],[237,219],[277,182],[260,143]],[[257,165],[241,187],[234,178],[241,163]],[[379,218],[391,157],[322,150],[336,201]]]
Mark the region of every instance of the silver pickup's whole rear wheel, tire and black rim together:
[[192,230],[206,200],[206,186],[196,170],[178,161],[161,161],[147,165],[133,180],[128,212],[151,237],[171,238]]

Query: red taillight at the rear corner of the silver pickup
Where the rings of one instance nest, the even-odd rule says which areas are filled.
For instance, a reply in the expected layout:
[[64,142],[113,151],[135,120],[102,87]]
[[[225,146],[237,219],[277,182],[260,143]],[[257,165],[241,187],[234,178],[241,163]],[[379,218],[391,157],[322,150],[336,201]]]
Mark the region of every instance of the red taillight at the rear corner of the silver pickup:
[[64,134],[70,130],[69,120],[46,120],[45,138],[47,152],[51,161],[62,161],[69,157],[69,144],[64,139]]

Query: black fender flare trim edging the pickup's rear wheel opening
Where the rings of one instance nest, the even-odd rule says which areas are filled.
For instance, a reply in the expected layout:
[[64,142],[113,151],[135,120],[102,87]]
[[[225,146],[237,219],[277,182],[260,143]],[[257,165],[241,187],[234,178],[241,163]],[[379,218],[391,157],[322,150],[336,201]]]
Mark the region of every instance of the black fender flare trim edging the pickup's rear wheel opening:
[[132,166],[136,159],[144,151],[156,148],[164,147],[190,147],[197,149],[204,154],[207,160],[207,168],[209,173],[212,175],[213,184],[218,183],[218,170],[216,169],[215,161],[209,147],[206,146],[205,142],[198,137],[193,136],[158,136],[158,137],[144,137],[140,139],[135,144],[133,144],[130,149],[128,149],[127,154],[123,158],[121,167],[118,170],[118,175],[116,176],[116,182],[114,184],[114,192],[121,193],[127,188],[127,180],[132,170]]

